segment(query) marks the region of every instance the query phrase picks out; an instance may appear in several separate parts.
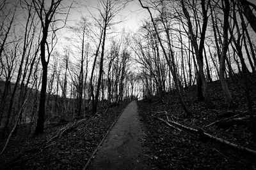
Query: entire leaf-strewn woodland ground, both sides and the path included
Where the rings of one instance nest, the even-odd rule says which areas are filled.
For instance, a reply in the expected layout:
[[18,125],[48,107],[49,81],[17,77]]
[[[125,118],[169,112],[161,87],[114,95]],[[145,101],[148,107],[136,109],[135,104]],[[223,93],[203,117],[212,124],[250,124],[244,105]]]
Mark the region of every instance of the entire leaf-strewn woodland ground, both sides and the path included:
[[[252,87],[254,115],[255,82],[253,75],[249,87]],[[196,86],[184,90],[184,101],[192,113],[190,117],[184,117],[177,93],[172,91],[166,93],[162,101],[154,96],[133,101],[128,106],[122,103],[116,108],[103,109],[94,117],[49,126],[45,134],[37,138],[28,138],[25,132],[19,131],[19,136],[12,138],[0,157],[3,165],[0,169],[83,169],[106,134],[89,169],[256,169],[252,155],[200,139],[189,131],[168,127],[156,118],[166,119],[163,114],[166,111],[174,122],[256,150],[248,120],[228,127],[210,125],[221,120],[220,115],[224,113],[248,113],[243,78],[228,79],[228,87],[237,106],[233,110],[228,110],[225,104],[220,81],[214,81],[209,83],[209,94],[215,108],[207,108],[204,102],[197,101]],[[116,124],[109,130],[116,118]],[[1,148],[3,144],[4,141],[0,141]]]

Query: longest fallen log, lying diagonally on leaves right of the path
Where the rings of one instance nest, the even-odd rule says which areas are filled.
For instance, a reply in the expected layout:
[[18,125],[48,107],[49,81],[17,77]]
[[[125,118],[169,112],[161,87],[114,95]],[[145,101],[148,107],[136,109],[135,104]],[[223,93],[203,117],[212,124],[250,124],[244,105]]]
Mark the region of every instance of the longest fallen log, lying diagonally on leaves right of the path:
[[[159,120],[161,120],[161,119],[159,119]],[[164,120],[164,121],[166,121],[166,120]],[[212,136],[211,134],[208,134],[207,132],[204,132],[202,129],[193,129],[191,127],[186,127],[185,125],[182,125],[182,124],[179,124],[177,122],[170,121],[170,120],[168,121],[168,123],[176,125],[176,126],[180,127],[181,129],[185,129],[185,130],[187,130],[189,132],[192,132],[194,134],[198,134],[200,136],[200,138],[203,137],[203,138],[212,139],[213,141],[217,141],[218,143],[227,145],[230,148],[234,148],[236,150],[239,150],[240,152],[247,153],[249,155],[252,155],[253,157],[256,157],[256,151],[255,150],[252,150],[250,148],[246,148],[244,146],[239,146],[239,145],[237,145],[235,143],[227,141],[226,139],[217,138],[215,136]],[[168,125],[168,124],[166,124],[166,125]]]

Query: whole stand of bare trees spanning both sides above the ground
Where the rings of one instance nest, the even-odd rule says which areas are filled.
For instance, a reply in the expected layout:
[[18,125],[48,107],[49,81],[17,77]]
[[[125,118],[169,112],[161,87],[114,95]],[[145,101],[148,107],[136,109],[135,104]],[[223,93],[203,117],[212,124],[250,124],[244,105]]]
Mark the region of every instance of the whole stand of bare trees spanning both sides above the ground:
[[127,1],[99,0],[90,17],[68,24],[68,34],[63,36],[67,41],[61,45],[58,30],[66,24],[70,7],[65,6],[71,3],[1,2],[3,136],[35,120],[35,135],[42,134],[45,123],[93,115],[100,107],[138,96],[158,96],[166,103],[164,94],[170,90],[177,90],[180,106],[189,115],[184,88],[197,85],[198,101],[211,106],[207,83],[219,79],[227,107],[232,108],[236,101],[227,78],[237,73],[244,78],[252,110],[251,87],[246,84],[256,71],[255,4],[235,0],[138,2],[149,17],[134,34],[116,31],[122,22],[116,15]]

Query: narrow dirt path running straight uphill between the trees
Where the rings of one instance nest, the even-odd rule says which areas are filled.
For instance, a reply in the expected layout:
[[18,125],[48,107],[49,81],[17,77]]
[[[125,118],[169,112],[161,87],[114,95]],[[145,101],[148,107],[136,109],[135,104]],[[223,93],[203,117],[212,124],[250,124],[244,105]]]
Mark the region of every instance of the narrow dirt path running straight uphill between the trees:
[[102,143],[89,169],[150,169],[143,158],[142,137],[138,106],[132,101]]

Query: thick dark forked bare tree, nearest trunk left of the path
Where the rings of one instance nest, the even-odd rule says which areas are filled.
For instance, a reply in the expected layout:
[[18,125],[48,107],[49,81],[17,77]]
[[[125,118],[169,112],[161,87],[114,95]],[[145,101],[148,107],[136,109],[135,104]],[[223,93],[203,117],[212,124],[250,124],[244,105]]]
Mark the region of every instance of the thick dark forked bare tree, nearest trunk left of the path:
[[[39,109],[38,109],[38,120],[36,124],[36,129],[34,132],[34,136],[38,134],[44,133],[44,117],[45,117],[45,97],[46,97],[46,88],[47,88],[47,68],[51,56],[51,52],[53,50],[53,47],[55,43],[53,42],[54,38],[56,37],[55,32],[58,31],[58,29],[54,28],[54,22],[57,22],[59,20],[56,20],[56,15],[59,11],[63,10],[63,7],[60,7],[60,4],[62,0],[52,0],[50,3],[50,6],[47,6],[44,0],[42,1],[35,1],[33,0],[33,8],[35,9],[38,18],[41,22],[42,27],[42,39],[40,41],[40,58],[43,68],[42,73],[42,86],[41,86],[41,92],[40,92],[40,103],[39,103]],[[70,8],[68,8],[69,12]],[[66,15],[68,16],[68,12]],[[67,17],[63,21],[64,25],[66,24]],[[52,29],[52,41],[51,41],[51,47],[49,46],[49,42],[47,41],[47,37],[49,34],[49,29]],[[45,53],[47,52],[47,54]]]

